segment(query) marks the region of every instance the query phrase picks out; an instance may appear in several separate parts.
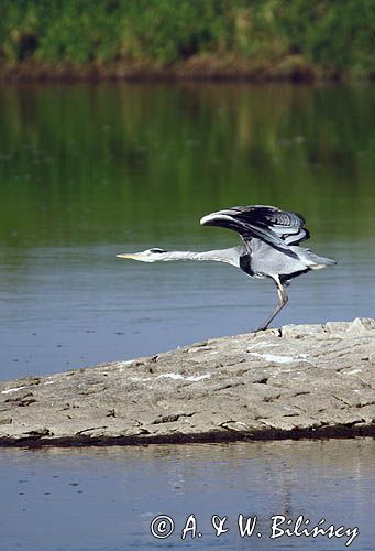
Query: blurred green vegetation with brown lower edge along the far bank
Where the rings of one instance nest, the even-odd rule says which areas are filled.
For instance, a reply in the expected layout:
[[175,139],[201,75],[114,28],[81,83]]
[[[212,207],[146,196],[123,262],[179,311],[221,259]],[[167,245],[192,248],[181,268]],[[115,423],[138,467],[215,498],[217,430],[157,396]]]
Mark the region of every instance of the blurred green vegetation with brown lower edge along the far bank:
[[0,0],[3,73],[371,78],[374,46],[375,0]]

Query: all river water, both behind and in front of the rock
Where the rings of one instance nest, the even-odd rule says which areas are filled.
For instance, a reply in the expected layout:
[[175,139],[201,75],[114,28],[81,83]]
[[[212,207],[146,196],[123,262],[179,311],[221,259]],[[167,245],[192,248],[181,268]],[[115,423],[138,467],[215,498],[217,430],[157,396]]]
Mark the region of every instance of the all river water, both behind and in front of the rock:
[[[365,84],[0,88],[0,377],[257,327],[276,302],[267,281],[115,258],[234,246],[235,234],[199,226],[233,205],[302,213],[308,246],[338,260],[291,283],[276,326],[373,317],[374,105]],[[2,451],[4,549],[40,549],[44,532],[53,550],[242,549],[233,530],[209,536],[210,515],[258,515],[266,533],[274,511],[359,525],[352,547],[374,549],[373,452],[372,441]],[[152,515],[175,514],[180,529],[195,511],[199,542],[181,543],[177,528],[175,539],[151,537]],[[251,540],[274,544],[344,549],[342,538]]]

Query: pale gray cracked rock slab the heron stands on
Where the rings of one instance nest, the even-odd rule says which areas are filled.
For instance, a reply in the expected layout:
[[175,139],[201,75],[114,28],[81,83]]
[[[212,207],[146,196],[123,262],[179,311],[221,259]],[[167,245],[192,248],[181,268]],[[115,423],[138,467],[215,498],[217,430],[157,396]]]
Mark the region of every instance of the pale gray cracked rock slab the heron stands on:
[[286,325],[0,383],[1,445],[375,434],[375,321]]

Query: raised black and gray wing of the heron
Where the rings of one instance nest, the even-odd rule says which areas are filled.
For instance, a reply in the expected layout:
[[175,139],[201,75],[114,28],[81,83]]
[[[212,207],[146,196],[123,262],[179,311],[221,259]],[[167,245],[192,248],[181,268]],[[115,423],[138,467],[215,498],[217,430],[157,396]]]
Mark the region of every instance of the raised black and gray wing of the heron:
[[288,252],[289,245],[297,245],[310,237],[309,230],[304,228],[305,218],[300,214],[266,205],[235,206],[219,210],[203,216],[200,224],[233,229],[246,245],[255,237]]

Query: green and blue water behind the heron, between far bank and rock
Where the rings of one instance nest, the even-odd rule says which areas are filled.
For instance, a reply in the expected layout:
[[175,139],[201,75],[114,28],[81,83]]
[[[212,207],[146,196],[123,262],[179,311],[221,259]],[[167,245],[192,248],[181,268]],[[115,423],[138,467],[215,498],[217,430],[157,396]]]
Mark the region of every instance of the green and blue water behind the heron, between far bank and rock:
[[0,88],[0,377],[129,359],[255,328],[274,285],[228,266],[124,261],[238,236],[202,215],[304,213],[339,264],[276,320],[373,316],[375,87]]

